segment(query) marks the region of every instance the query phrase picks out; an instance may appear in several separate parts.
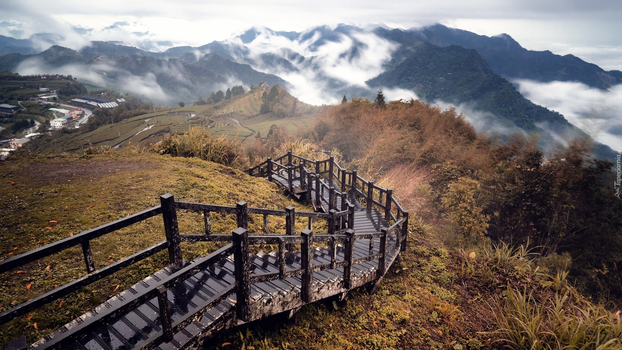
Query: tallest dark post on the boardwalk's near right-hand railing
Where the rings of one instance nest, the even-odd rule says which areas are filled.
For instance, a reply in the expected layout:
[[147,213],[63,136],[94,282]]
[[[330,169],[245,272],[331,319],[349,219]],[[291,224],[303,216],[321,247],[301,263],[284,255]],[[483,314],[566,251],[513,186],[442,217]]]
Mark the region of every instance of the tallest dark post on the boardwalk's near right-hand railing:
[[248,230],[238,227],[233,230],[233,262],[235,265],[236,315],[244,322],[251,319],[251,279],[249,277]]

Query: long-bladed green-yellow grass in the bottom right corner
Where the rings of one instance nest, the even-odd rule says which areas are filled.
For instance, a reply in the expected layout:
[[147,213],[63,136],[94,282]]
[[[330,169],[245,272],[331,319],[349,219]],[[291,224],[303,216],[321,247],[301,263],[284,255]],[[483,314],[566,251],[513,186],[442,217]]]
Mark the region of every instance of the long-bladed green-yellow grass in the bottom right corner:
[[[500,244],[485,248],[479,261],[465,258],[465,280],[507,285],[491,307],[498,329],[488,334],[514,350],[622,349],[620,311],[585,300],[567,283],[568,272],[545,273],[537,267],[539,257],[525,245]],[[504,278],[509,276],[519,283]]]

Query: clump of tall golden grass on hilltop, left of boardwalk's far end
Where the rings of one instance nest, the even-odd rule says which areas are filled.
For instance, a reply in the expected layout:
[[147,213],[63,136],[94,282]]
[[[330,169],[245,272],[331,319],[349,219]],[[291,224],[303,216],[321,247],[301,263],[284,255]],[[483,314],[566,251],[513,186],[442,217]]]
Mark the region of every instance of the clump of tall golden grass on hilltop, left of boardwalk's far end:
[[231,139],[228,135],[211,138],[210,133],[201,126],[190,128],[190,131],[183,135],[167,136],[152,150],[159,154],[195,157],[228,166],[239,164],[243,157],[239,140]]

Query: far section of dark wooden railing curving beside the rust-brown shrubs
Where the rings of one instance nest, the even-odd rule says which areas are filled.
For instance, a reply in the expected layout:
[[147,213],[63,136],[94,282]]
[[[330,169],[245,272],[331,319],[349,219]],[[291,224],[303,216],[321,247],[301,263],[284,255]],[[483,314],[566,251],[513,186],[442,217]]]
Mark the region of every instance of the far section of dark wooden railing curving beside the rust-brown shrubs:
[[[287,177],[289,192],[294,190],[292,182],[301,179],[300,187],[302,191],[307,192],[307,199],[313,201],[316,207],[327,208],[325,210],[327,212],[332,209],[343,210],[343,207],[337,208],[335,202],[337,198],[347,201],[348,194],[355,199],[364,199],[369,209],[377,207],[383,211],[387,222],[393,224],[399,222],[399,229],[402,230],[402,251],[406,249],[408,210],[404,210],[399,204],[393,195],[393,190],[384,189],[376,186],[372,180],[363,179],[356,173],[356,170],[347,171],[341,168],[333,156],[322,161],[313,161],[288,151],[287,154],[275,160],[267,158],[266,161],[249,168],[245,173],[250,176],[266,177],[268,181],[272,181],[275,176]],[[330,181],[334,181],[337,187],[330,186]],[[315,197],[312,198],[313,192]],[[325,199],[324,194],[327,192],[328,199]]]

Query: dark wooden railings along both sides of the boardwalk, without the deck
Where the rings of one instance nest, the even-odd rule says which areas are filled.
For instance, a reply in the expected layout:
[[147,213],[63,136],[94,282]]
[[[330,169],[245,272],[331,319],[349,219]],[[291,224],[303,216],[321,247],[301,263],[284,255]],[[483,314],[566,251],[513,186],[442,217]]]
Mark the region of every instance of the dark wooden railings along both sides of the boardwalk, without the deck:
[[[282,164],[287,161],[287,164]],[[292,161],[295,161],[294,164]],[[263,165],[262,165],[263,164]],[[312,278],[313,272],[343,268],[344,288],[346,290],[352,288],[353,284],[353,267],[356,263],[371,261],[378,259],[378,270],[376,270],[376,279],[381,278],[392,265],[397,257],[399,250],[403,250],[406,245],[406,233],[408,224],[408,212],[403,210],[399,202],[392,196],[391,189],[383,189],[374,186],[372,181],[365,181],[357,176],[356,170],[345,171],[336,162],[333,157],[324,161],[310,161],[294,154],[286,154],[284,157],[272,161],[268,159],[260,166],[249,169],[248,173],[254,176],[274,176],[274,167],[276,169],[289,170],[288,176],[294,175],[292,169],[297,168],[301,178],[308,180],[307,184],[313,186],[316,194],[322,191],[329,191],[327,207],[330,208],[327,213],[319,212],[296,212],[294,207],[286,207],[285,210],[264,209],[248,207],[246,202],[238,202],[235,207],[215,206],[213,204],[191,203],[175,201],[172,194],[160,196],[160,206],[143,210],[134,215],[115,220],[109,224],[101,225],[95,229],[86,230],[80,234],[73,235],[58,242],[54,242],[44,247],[37,248],[27,253],[17,255],[0,262],[0,273],[9,272],[14,268],[21,267],[27,263],[35,262],[40,258],[49,257],[54,253],[61,252],[67,248],[81,245],[83,256],[85,258],[86,272],[84,277],[78,278],[70,283],[59,286],[55,290],[49,291],[44,295],[37,296],[32,300],[26,301],[21,305],[0,313],[0,324],[7,323],[14,318],[24,316],[32,310],[44,306],[54,300],[58,300],[73,291],[77,291],[90,283],[101,280],[104,277],[112,275],[123,268],[137,263],[144,258],[150,257],[162,250],[167,249],[169,253],[170,265],[176,270],[168,277],[160,280],[157,285],[150,286],[139,291],[135,295],[128,295],[127,298],[114,308],[98,311],[96,315],[90,316],[80,323],[79,326],[68,329],[64,333],[49,339],[41,344],[37,349],[65,349],[68,344],[80,339],[83,335],[96,331],[105,324],[111,323],[120,316],[137,308],[153,298],[157,298],[159,305],[159,317],[161,321],[161,330],[151,336],[151,338],[142,342],[135,349],[154,349],[162,342],[170,341],[173,335],[192,323],[198,316],[214,308],[229,296],[236,294],[236,317],[241,321],[250,321],[253,317],[251,313],[251,285],[263,281],[282,280],[284,278],[300,276],[302,280],[301,298],[305,303],[317,300],[321,296],[313,295]],[[314,171],[310,171],[305,164],[313,164]],[[279,175],[279,173],[276,173]],[[337,191],[334,187],[327,186],[323,179],[337,179],[341,191]],[[322,180],[322,181],[320,181]],[[318,183],[319,181],[319,183]],[[306,189],[310,191],[312,189]],[[368,208],[372,206],[380,207],[385,210],[385,218],[389,222],[389,227],[380,229],[379,232],[356,234],[354,223],[355,205],[348,200],[348,193],[355,198],[363,198],[366,200]],[[366,190],[366,191],[365,191]],[[378,201],[376,201],[375,192],[378,192]],[[383,199],[384,196],[384,199]],[[320,196],[323,198],[323,196]],[[341,207],[337,208],[336,198],[340,198]],[[322,201],[322,199],[320,199]],[[180,234],[177,224],[177,210],[193,210],[202,212],[205,224],[204,234]],[[337,210],[340,209],[340,210]],[[212,234],[211,232],[211,212],[219,212],[225,214],[236,215],[237,229],[233,230],[231,235]],[[396,214],[394,214],[395,212]],[[111,263],[110,265],[95,270],[95,262],[91,252],[90,240],[109,234],[129,225],[136,224],[142,220],[149,219],[156,215],[162,214],[166,240],[152,245],[149,248],[141,250],[129,257]],[[260,235],[249,235],[248,217],[251,215],[262,215],[263,225]],[[276,215],[285,217],[285,234],[273,234],[268,230],[269,216]],[[295,234],[295,218],[307,217],[307,229],[302,230],[299,235]],[[313,220],[327,220],[328,232],[315,234],[313,232]],[[391,224],[392,222],[392,224]],[[388,239],[389,235],[395,235],[396,244],[391,247],[395,253],[389,255]],[[369,239],[369,253],[360,258],[354,258],[354,245],[356,240]],[[374,254],[374,241],[379,239],[379,253]],[[207,257],[198,258],[193,263],[183,266],[181,242],[231,242],[216,252],[211,253]],[[325,244],[330,251],[330,262],[314,263],[313,262],[313,243]],[[337,260],[337,245],[343,243],[344,258]],[[249,246],[250,245],[278,245],[279,271],[266,273],[251,273],[249,271]],[[285,252],[294,251],[295,245],[300,245],[301,267],[288,269],[285,263]],[[234,257],[234,274],[235,283],[224,288],[220,292],[213,295],[210,300],[203,302],[201,305],[190,310],[183,318],[172,321],[169,312],[169,303],[167,298],[167,290],[182,281],[187,280],[198,272],[213,265],[223,258]],[[391,260],[388,257],[391,256]],[[222,315],[220,317],[224,317]],[[216,323],[218,319],[214,320]]]

